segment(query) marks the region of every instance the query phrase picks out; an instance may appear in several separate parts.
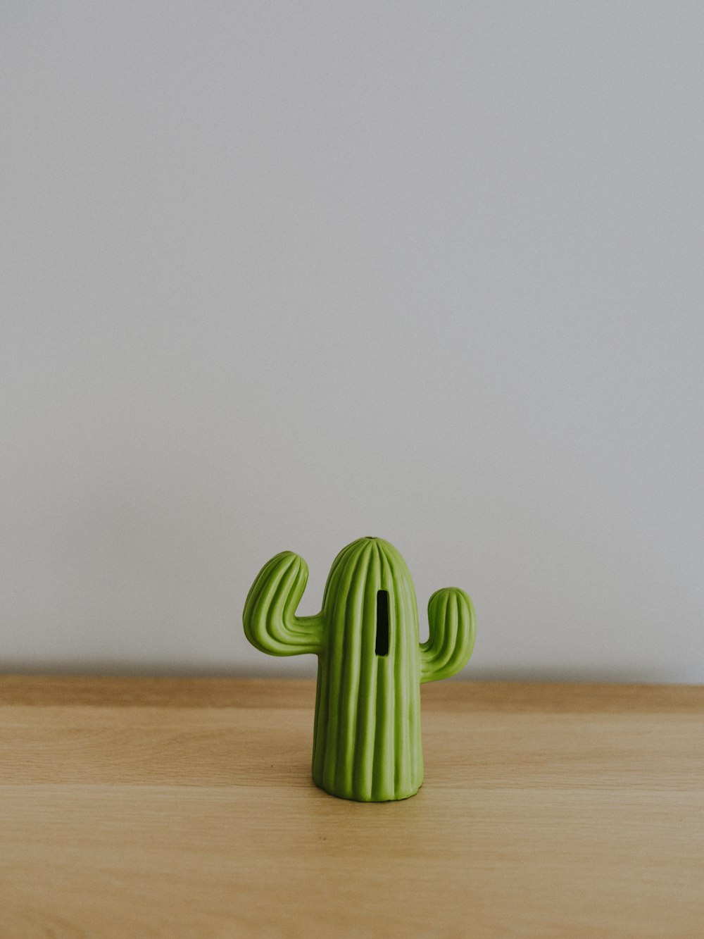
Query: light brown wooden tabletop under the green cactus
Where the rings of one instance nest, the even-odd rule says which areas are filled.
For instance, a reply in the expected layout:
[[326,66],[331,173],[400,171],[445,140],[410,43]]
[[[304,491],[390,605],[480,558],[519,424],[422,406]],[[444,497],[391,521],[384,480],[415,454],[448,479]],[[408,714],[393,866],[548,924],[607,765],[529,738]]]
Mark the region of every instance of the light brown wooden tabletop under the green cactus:
[[704,688],[422,703],[421,792],[363,805],[312,682],[0,678],[0,936],[704,936]]

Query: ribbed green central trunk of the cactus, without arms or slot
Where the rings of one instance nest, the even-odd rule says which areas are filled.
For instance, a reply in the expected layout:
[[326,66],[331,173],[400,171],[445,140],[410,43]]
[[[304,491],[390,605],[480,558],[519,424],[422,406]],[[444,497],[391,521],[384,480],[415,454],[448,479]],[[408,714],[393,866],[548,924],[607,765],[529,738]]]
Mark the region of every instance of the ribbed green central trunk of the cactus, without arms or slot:
[[[375,654],[376,594],[389,594],[389,653]],[[323,604],[313,777],[333,795],[404,799],[422,782],[418,609],[388,542],[362,538],[332,565]]]

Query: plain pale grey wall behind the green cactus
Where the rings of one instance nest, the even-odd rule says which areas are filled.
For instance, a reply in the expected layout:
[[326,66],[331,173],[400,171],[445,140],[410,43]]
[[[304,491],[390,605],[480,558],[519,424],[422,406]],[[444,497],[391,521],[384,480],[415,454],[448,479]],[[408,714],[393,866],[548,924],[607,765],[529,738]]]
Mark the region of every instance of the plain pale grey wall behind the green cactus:
[[2,8],[5,670],[249,647],[367,533],[467,677],[704,680],[704,7]]

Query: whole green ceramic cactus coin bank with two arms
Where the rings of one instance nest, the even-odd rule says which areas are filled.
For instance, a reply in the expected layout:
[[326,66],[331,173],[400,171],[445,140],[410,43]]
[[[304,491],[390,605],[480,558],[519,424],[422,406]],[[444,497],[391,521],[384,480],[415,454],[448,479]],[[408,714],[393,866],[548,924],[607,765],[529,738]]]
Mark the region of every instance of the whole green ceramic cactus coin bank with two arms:
[[313,778],[331,795],[385,802],[423,780],[422,682],[463,669],[474,647],[472,601],[437,591],[430,637],[419,642],[406,562],[381,538],[360,538],[335,558],[316,616],[296,616],[308,567],[292,551],[272,558],[244,608],[247,639],[271,655],[318,656]]

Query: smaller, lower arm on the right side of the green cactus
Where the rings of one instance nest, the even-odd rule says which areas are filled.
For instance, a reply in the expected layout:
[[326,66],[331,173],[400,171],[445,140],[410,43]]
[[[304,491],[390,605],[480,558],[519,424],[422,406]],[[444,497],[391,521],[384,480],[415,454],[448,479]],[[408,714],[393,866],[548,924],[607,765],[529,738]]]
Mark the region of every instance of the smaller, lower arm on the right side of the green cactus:
[[428,602],[430,637],[421,643],[421,682],[449,678],[464,669],[474,649],[474,606],[464,590],[446,587]]

